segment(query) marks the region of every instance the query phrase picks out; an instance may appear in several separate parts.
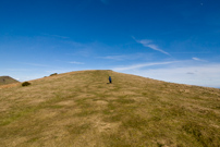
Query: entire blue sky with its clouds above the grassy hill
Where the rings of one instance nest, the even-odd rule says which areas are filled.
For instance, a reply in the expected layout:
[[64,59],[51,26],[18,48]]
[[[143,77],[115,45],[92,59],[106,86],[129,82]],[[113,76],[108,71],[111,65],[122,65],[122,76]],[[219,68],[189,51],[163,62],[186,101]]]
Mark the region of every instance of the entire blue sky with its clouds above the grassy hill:
[[0,75],[80,70],[220,87],[220,1],[0,1]]

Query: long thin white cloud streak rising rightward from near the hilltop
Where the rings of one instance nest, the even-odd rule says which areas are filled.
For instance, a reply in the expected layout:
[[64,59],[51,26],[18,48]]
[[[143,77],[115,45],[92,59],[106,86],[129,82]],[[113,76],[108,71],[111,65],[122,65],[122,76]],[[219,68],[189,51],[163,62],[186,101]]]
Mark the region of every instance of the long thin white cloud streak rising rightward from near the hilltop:
[[164,64],[172,64],[179,61],[170,61],[170,62],[152,62],[152,63],[142,63],[142,64],[134,64],[121,68],[113,68],[114,71],[127,71],[127,70],[136,70],[145,66],[154,66],[154,65],[164,65]]

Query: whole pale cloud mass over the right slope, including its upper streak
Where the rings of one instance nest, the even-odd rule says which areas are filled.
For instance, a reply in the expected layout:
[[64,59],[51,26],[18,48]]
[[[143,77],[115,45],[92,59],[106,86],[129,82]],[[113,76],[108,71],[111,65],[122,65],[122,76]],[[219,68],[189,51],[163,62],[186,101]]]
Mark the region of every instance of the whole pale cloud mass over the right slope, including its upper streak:
[[[148,68],[144,69],[144,66]],[[113,70],[166,82],[220,88],[220,63],[185,60],[136,64]]]

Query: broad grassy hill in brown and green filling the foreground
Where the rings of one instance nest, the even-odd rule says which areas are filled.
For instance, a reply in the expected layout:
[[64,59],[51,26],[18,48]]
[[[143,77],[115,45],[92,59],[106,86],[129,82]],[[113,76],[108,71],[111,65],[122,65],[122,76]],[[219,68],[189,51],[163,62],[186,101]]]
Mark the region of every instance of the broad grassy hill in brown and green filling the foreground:
[[30,83],[0,89],[0,146],[220,146],[220,89],[113,71]]

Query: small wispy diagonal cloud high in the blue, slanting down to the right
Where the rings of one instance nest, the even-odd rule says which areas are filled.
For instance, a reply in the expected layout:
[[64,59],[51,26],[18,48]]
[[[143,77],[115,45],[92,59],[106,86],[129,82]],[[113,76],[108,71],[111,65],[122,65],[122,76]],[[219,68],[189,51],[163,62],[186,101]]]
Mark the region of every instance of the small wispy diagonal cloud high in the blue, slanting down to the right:
[[[134,38],[134,37],[133,37]],[[134,38],[135,39],[135,38]],[[164,54],[168,54],[170,56],[170,53],[166,52],[164,50],[160,49],[157,45],[155,45],[152,42],[152,40],[149,40],[149,39],[142,39],[142,40],[137,40],[135,39],[136,42],[138,44],[142,44],[144,47],[147,47],[147,48],[150,48],[150,49],[154,49],[156,51],[159,51],[159,52],[162,52]]]

